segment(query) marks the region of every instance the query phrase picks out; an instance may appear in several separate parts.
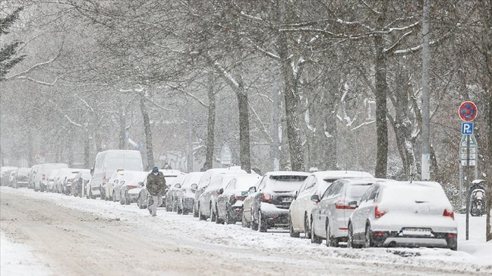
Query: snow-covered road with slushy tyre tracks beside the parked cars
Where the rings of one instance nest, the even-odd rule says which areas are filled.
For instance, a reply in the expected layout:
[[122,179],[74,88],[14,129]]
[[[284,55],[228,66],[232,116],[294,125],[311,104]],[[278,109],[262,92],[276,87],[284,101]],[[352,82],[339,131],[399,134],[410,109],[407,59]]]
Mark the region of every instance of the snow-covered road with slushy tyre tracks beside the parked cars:
[[[1,275],[491,275],[484,217],[472,217],[458,252],[449,249],[347,249],[312,245],[283,230],[237,225],[136,205],[28,189],[0,189]],[[4,242],[6,241],[6,242]],[[29,253],[24,261],[15,248]],[[461,251],[464,249],[465,251]],[[10,252],[10,253],[9,253]]]

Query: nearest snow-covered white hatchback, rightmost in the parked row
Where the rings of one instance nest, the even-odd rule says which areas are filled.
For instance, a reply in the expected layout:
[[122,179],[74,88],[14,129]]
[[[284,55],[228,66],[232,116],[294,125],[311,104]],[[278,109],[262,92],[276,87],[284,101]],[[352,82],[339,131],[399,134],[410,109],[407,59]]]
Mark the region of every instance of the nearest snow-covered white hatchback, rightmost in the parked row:
[[349,217],[349,247],[458,248],[451,203],[437,182],[376,182]]

